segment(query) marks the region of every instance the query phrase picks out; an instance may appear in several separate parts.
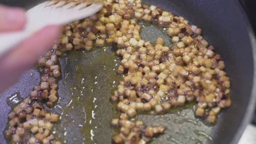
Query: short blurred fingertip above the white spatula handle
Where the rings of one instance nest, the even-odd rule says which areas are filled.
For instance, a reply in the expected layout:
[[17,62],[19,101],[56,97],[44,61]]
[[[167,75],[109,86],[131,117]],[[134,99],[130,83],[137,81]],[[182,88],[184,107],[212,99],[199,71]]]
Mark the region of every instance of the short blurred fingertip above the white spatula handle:
[[21,8],[0,5],[0,32],[19,31],[26,25],[26,12]]

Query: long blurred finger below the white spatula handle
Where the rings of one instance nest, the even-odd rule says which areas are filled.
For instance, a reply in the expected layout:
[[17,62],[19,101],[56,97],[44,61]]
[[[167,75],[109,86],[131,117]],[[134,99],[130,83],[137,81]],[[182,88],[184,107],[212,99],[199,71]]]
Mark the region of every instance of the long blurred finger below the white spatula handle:
[[0,79],[5,83],[0,82],[0,91],[15,83],[22,73],[33,66],[39,56],[52,49],[59,33],[59,26],[45,27],[1,58]]

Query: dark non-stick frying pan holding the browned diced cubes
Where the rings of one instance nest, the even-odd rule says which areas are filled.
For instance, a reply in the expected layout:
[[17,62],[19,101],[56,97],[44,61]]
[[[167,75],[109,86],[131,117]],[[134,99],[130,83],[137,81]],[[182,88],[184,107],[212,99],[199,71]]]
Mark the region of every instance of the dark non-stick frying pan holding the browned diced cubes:
[[[24,8],[30,8],[39,2],[42,1],[1,1],[3,4]],[[195,118],[193,106],[189,105],[185,106],[184,110],[179,109],[164,116],[139,116],[139,119],[143,119],[148,124],[164,124],[167,127],[166,134],[159,136],[152,143],[237,143],[251,120],[256,98],[254,70],[256,43],[240,3],[222,0],[145,0],[143,2],[157,5],[176,15],[183,16],[193,25],[202,28],[203,37],[216,47],[217,53],[222,55],[226,65],[225,70],[232,85],[232,105],[229,109],[222,111],[216,125],[207,125]],[[154,41],[156,36],[161,36],[161,33],[156,31],[156,27],[149,26],[147,28],[142,31],[143,39]],[[110,87],[115,87],[112,85],[113,80],[120,79],[120,77],[114,76],[113,68],[116,68],[116,63],[113,63],[113,60],[118,62],[118,58],[115,57],[113,51],[114,47],[108,47],[106,51],[99,49],[91,52],[73,51],[60,58],[62,79],[59,81],[58,92],[61,100],[53,111],[67,113],[66,118],[62,118],[61,123],[56,124],[55,127],[56,135],[60,137],[63,136],[65,127],[68,134],[63,140],[66,140],[67,143],[82,143],[84,137],[88,139],[86,135],[90,132],[88,129],[96,129],[90,125],[78,127],[79,123],[86,121],[86,114],[89,115],[86,112],[89,111],[88,109],[91,110],[89,107],[95,105],[98,106],[97,111],[95,110],[97,118],[92,123],[97,125],[97,130],[94,133],[95,137],[91,138],[95,139],[96,143],[110,143],[112,131],[109,128],[109,121],[115,116],[115,113],[112,111],[108,98],[113,93],[113,88],[111,90]],[[92,86],[91,83],[94,82],[92,77],[95,76],[98,77],[98,83],[101,84]],[[78,81],[81,79],[86,81],[83,85]],[[0,94],[0,143],[7,143],[3,131],[8,121],[8,112],[11,110],[7,104],[8,99],[17,95],[22,98],[27,97],[39,80],[38,70],[30,69],[21,76],[18,83]],[[86,87],[83,92],[84,97],[71,104],[73,98],[78,98],[78,91],[74,89],[83,86]],[[92,88],[96,93],[90,93]],[[97,99],[95,100],[96,104],[92,104],[91,95]],[[16,100],[18,99],[19,97]],[[69,103],[72,107],[68,107]]]

